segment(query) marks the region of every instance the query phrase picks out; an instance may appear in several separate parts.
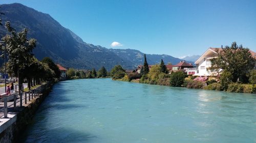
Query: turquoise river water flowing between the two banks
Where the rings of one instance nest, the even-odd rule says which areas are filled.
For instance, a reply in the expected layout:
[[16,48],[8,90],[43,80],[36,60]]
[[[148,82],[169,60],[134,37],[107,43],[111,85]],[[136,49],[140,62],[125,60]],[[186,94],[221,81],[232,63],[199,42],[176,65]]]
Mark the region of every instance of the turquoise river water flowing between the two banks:
[[62,81],[22,142],[256,142],[256,96],[111,79]]

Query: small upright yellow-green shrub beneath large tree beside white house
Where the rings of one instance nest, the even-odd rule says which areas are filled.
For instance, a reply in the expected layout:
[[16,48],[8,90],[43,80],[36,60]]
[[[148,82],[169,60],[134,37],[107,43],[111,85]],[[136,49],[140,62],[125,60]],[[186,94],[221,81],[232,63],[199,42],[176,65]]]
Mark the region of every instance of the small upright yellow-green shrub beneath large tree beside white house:
[[224,91],[227,90],[228,84],[231,83],[232,79],[233,79],[233,76],[232,76],[231,72],[229,72],[227,70],[224,70],[222,72],[221,77],[220,77],[222,90],[224,90]]

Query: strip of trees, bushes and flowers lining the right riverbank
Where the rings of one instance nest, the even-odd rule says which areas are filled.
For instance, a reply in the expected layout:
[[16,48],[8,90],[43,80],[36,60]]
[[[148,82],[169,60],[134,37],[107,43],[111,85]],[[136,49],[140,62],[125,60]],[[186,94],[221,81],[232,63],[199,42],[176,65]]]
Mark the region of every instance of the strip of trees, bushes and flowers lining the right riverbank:
[[[126,74],[125,70],[117,65],[112,69],[114,80],[133,81],[147,84],[158,84],[172,87],[186,87],[189,89],[217,90],[236,93],[256,94],[256,70],[255,59],[249,53],[248,48],[238,46],[233,42],[231,46],[223,48],[217,58],[211,60],[209,71],[218,71],[216,76],[197,77],[187,75],[183,71],[168,74],[163,61],[160,65],[148,67],[144,55],[144,66],[140,73]],[[222,71],[219,71],[222,69]]]

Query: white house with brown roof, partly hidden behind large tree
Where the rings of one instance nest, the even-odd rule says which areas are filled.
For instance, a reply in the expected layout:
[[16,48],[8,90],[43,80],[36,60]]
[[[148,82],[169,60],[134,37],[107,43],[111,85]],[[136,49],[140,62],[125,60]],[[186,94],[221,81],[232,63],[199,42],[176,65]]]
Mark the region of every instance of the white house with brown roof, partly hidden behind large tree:
[[[212,76],[217,73],[207,71],[207,68],[211,66],[210,60],[212,58],[217,58],[218,52],[220,52],[222,48],[209,48],[207,49],[201,57],[195,62],[197,68],[188,68],[187,74],[195,73],[194,76]],[[256,59],[255,52],[249,50],[252,56]],[[220,69],[221,71],[221,69]]]

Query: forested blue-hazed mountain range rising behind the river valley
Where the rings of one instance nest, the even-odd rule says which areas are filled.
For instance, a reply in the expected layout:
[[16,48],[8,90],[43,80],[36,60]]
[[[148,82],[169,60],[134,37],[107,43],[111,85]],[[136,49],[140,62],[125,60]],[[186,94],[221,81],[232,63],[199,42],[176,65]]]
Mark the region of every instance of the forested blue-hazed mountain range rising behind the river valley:
[[[134,49],[108,49],[84,42],[68,28],[63,27],[49,14],[38,12],[22,4],[0,5],[3,23],[10,21],[17,32],[28,28],[28,37],[37,40],[33,50],[37,59],[48,56],[55,63],[76,69],[100,69],[104,66],[110,70],[115,65],[125,69],[135,69],[144,62],[144,53]],[[7,33],[0,26],[0,37]],[[159,64],[161,59],[173,65],[183,61],[166,54],[146,54],[150,65]],[[188,61],[189,63],[193,63]]]

